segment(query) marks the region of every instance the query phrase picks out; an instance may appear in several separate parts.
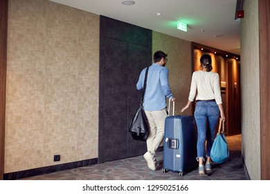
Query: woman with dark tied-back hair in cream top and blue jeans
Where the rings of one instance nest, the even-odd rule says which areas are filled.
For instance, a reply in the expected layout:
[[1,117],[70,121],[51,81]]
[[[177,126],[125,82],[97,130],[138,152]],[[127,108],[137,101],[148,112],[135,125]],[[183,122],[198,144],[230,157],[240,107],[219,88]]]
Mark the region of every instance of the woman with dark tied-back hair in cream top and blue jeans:
[[[211,72],[213,69],[211,56],[202,55],[200,62],[201,70],[192,74],[188,103],[181,109],[181,112],[188,109],[196,96],[194,116],[198,130],[197,161],[199,161],[199,175],[207,176],[207,171],[211,170],[210,150],[215,139],[215,128],[217,121],[219,121],[219,113],[223,122],[225,116],[220,93],[219,74]],[[207,123],[209,132],[207,132]],[[206,139],[206,166],[204,166]]]

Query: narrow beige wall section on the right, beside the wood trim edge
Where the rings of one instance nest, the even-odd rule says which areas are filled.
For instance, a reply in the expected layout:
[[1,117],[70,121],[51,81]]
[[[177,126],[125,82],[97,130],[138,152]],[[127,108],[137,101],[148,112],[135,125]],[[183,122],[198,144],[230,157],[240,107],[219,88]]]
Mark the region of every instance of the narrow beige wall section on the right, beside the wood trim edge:
[[261,178],[258,1],[244,1],[241,19],[242,155],[251,179]]

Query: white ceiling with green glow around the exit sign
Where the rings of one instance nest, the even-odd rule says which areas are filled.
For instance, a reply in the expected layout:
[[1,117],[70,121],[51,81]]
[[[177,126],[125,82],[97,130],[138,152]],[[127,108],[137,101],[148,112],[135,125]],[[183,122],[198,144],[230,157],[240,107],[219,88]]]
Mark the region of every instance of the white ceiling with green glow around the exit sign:
[[[133,0],[132,6],[124,0],[51,1],[240,55],[237,0]],[[188,24],[188,31],[178,30],[177,21]]]

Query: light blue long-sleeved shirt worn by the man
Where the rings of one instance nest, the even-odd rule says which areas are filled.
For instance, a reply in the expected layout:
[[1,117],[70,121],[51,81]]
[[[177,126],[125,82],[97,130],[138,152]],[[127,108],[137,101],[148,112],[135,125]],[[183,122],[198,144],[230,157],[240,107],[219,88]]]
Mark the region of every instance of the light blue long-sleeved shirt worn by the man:
[[[136,85],[138,90],[143,89],[145,71],[146,68],[141,71],[141,75],[138,78]],[[167,67],[162,67],[155,63],[149,67],[143,102],[143,108],[146,111],[164,109],[167,106],[166,97],[173,98],[168,76],[169,70]]]

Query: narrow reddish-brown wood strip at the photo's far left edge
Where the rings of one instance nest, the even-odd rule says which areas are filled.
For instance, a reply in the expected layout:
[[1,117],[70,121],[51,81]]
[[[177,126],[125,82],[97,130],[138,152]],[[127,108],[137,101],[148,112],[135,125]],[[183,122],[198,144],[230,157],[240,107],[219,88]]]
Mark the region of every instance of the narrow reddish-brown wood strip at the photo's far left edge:
[[0,179],[3,179],[6,107],[6,58],[8,36],[8,0],[0,1]]

